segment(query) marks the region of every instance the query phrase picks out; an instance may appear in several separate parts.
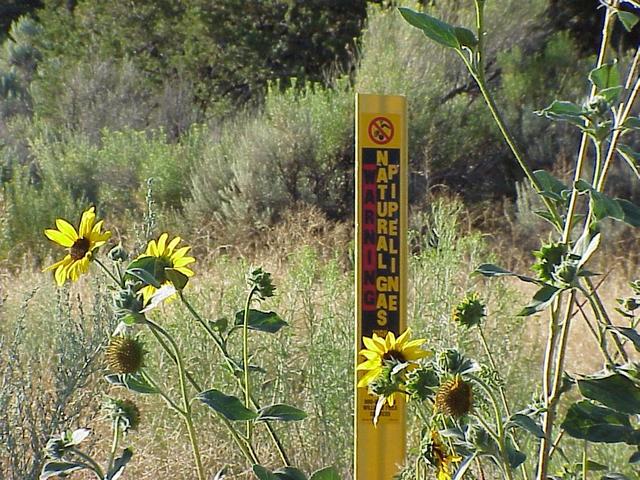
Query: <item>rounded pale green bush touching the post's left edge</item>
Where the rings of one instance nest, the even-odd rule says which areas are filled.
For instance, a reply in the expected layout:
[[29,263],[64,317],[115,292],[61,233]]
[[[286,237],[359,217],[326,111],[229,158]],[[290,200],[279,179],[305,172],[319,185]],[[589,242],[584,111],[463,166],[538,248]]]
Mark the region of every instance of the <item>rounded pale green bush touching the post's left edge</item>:
[[351,210],[353,113],[345,81],[269,90],[258,115],[222,127],[193,170],[189,218],[270,225],[298,203]]

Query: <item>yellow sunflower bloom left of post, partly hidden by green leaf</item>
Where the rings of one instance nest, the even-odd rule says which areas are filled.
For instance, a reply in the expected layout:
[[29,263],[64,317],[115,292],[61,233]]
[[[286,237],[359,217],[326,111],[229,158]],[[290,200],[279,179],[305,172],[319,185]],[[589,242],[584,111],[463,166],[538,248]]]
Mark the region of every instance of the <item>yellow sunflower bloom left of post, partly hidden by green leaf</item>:
[[[181,241],[180,237],[175,237],[169,243],[167,240],[169,239],[168,233],[163,233],[160,235],[158,240],[151,240],[145,252],[138,257],[154,257],[157,259],[156,265],[154,268],[154,276],[160,285],[170,285],[171,280],[167,275],[167,270],[175,270],[178,273],[181,273],[185,277],[193,277],[194,273],[187,265],[195,262],[196,259],[193,257],[188,257],[187,253],[191,250],[191,247],[181,247],[176,249],[178,244]],[[146,304],[149,299],[156,293],[158,289],[153,285],[146,285],[142,289],[140,289],[140,293],[142,294],[142,298],[144,303]]]

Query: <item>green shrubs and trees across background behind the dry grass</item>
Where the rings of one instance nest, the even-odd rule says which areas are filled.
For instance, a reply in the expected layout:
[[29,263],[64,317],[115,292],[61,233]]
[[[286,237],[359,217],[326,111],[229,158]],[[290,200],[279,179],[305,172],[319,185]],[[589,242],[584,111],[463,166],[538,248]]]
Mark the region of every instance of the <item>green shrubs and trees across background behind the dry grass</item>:
[[[239,62],[233,52],[191,52],[189,42],[203,45],[207,42],[202,38],[214,35],[211,48],[219,48],[231,33],[213,31],[211,25],[222,17],[230,25],[234,19],[257,21],[259,11],[242,16],[233,2],[203,11],[197,2],[189,8],[140,3],[136,15],[118,15],[129,20],[111,25],[114,12],[124,5],[79,2],[68,9],[50,1],[36,12],[38,21],[23,18],[9,32],[0,55],[4,257],[18,242],[37,250],[36,232],[54,216],[46,212],[46,204],[53,202],[45,199],[55,198],[62,212],[82,201],[94,202],[108,214],[120,215],[121,206],[112,209],[116,204],[127,205],[133,213],[143,204],[150,176],[155,178],[158,203],[173,212],[175,223],[201,230],[206,219],[222,242],[227,241],[222,238],[226,226],[242,225],[251,234],[273,225],[295,205],[317,206],[331,218],[346,219],[353,209],[356,91],[408,97],[411,198],[416,204],[440,185],[473,202],[515,195],[520,173],[478,101],[473,82],[441,51],[425,45],[420,32],[401,28],[394,9],[369,6],[356,57],[340,56],[344,51],[339,42],[357,30],[357,19],[332,24],[342,33],[330,48],[323,43],[321,61],[287,60],[299,65],[298,70],[283,65],[259,68],[255,57],[266,61],[264,53],[247,53],[242,64],[251,65],[252,71],[236,72],[253,82],[243,94],[251,98],[247,103],[219,93],[226,87],[216,78],[232,81],[225,68]],[[270,25],[285,15],[282,5],[261,22]],[[163,19],[176,13],[175,8],[179,21],[169,25]],[[291,37],[267,29],[271,37],[251,39],[241,32],[254,30],[238,27],[232,43],[251,50],[258,40],[273,47],[277,37],[278,44],[289,42],[287,48],[313,54],[313,48],[308,51],[293,40],[305,31],[304,38],[318,41],[316,30],[303,28],[312,6],[305,2],[291,8],[286,16],[286,35]],[[343,18],[342,8],[327,7],[314,28],[321,30],[334,16]],[[589,59],[577,56],[567,34],[548,28],[545,0],[490,8],[511,12],[508,22],[492,33],[490,87],[505,105],[517,139],[539,139],[526,147],[535,166],[554,168],[575,134],[531,111],[548,103],[550,92],[578,99]],[[432,9],[460,22],[472,15],[464,3],[456,9],[439,4]],[[154,28],[151,44],[138,47],[147,38],[140,29]],[[208,61],[220,58],[216,66],[222,69],[199,70],[207,64],[199,55],[213,55]],[[285,53],[281,57],[289,58]],[[337,58],[342,67],[332,69]],[[191,63],[184,64],[187,60]],[[351,73],[349,61],[356,67]],[[214,90],[203,93],[202,85]],[[28,211],[33,218],[25,222]]]

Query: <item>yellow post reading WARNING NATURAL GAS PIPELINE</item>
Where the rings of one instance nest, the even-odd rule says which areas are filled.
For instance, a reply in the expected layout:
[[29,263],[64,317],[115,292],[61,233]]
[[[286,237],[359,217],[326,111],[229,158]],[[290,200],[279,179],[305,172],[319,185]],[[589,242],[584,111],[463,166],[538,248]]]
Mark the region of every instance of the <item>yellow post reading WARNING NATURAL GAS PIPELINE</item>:
[[[362,337],[398,336],[407,317],[407,103],[356,95],[356,364]],[[356,373],[356,384],[359,375]],[[384,407],[356,388],[355,480],[391,480],[405,460],[404,399]]]

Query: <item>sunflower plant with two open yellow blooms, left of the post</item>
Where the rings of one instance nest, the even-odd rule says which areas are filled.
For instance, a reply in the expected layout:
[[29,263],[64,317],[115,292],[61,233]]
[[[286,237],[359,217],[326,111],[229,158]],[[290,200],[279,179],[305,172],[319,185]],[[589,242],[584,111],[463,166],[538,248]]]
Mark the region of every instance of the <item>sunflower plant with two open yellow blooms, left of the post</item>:
[[[209,472],[202,461],[202,439],[194,419],[196,408],[208,409],[227,428],[237,450],[258,479],[306,479],[304,472],[291,465],[273,424],[302,421],[307,414],[285,403],[262,405],[252,388],[252,374],[257,369],[251,363],[254,361],[250,351],[251,335],[277,334],[287,326],[277,313],[260,309],[264,301],[275,295],[271,275],[262,268],[252,268],[247,274],[248,293],[243,308],[233,315],[233,321],[226,317],[212,321],[196,310],[185,292],[195,275],[196,258],[190,255],[191,247],[183,245],[180,237],[162,233],[157,239],[150,240],[137,256],[131,255],[122,245],[115,245],[106,255],[109,262],[102,262],[98,258],[99,250],[110,237],[108,231],[102,232],[102,225],[102,221],[95,221],[95,208],[90,207],[82,214],[78,230],[58,219],[57,229],[46,230],[45,235],[67,249],[63,260],[47,268],[54,270],[58,285],[76,281],[81,274],[89,273],[92,263],[101,268],[111,282],[113,311],[119,325],[105,342],[107,382],[134,395],[158,397],[175,418],[184,423],[199,480],[214,475],[221,478],[224,473]],[[133,260],[129,261],[130,258]],[[212,357],[210,362],[217,359],[219,367],[237,379],[236,392],[223,391],[215,385],[204,387],[196,380],[198,365],[188,362],[187,352],[178,345],[174,334],[163,326],[166,322],[159,319],[165,312],[161,307],[167,301],[177,301],[189,313],[194,326],[211,342],[211,351],[217,357]],[[153,368],[151,356],[147,355],[150,342],[157,343],[175,367],[175,388],[169,384],[175,377],[166,372],[166,368]],[[237,351],[241,356],[234,353]],[[166,373],[165,378],[160,378],[158,371]],[[109,398],[103,411],[114,431],[107,467],[102,468],[93,457],[77,448],[89,432],[82,429],[50,440],[47,448],[50,461],[45,464],[40,478],[65,476],[78,470],[89,470],[102,480],[115,480],[122,474],[133,456],[133,449],[125,449],[117,458],[116,450],[124,435],[137,428],[142,416],[130,400]],[[258,457],[255,444],[258,429],[266,431],[282,463],[273,472],[264,467]],[[339,477],[333,467],[327,467],[314,472],[309,480],[324,478]]]

